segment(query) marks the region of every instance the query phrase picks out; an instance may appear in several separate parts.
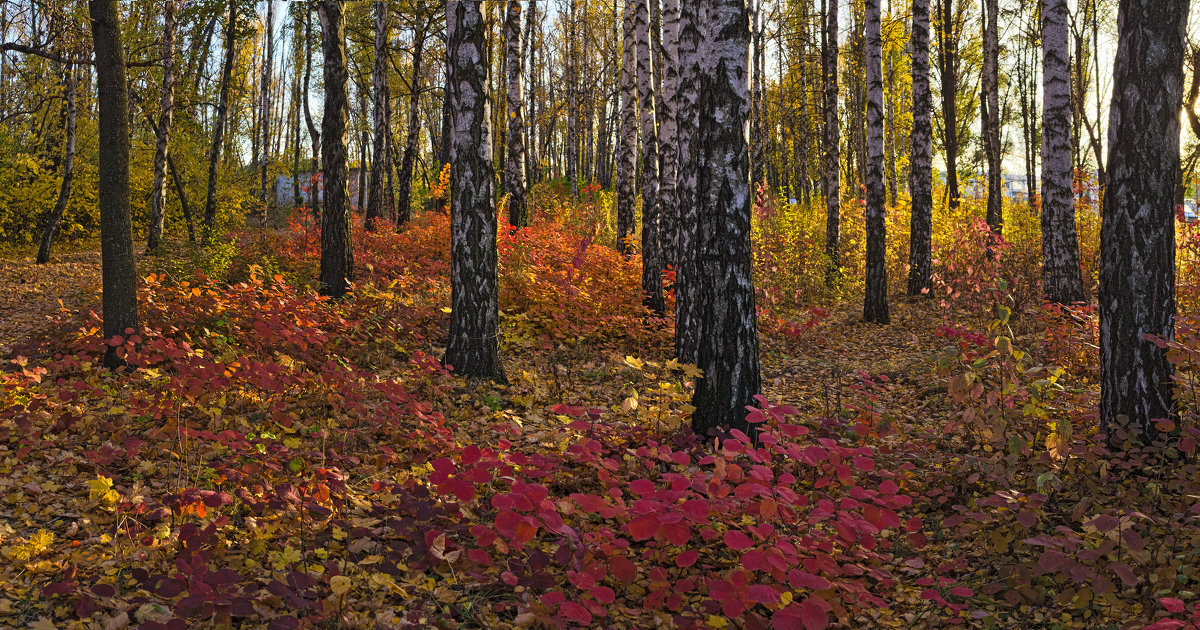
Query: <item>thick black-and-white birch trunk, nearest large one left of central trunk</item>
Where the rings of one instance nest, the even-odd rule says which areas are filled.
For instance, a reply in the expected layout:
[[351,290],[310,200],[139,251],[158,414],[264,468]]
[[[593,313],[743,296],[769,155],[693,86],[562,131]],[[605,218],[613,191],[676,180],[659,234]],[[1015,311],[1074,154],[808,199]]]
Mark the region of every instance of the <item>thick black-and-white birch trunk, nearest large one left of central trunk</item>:
[[451,0],[450,28],[450,338],[445,365],[504,380],[493,206],[487,42],[480,2]]

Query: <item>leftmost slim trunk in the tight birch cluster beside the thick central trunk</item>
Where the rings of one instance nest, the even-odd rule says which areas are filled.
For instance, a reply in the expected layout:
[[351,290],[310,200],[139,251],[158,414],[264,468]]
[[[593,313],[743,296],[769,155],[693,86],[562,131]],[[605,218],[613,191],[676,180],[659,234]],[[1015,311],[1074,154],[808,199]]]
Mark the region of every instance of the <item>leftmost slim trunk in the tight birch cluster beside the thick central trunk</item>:
[[620,133],[617,152],[617,251],[630,256],[634,235],[634,178],[637,174],[637,43],[634,2],[626,2],[620,64]]

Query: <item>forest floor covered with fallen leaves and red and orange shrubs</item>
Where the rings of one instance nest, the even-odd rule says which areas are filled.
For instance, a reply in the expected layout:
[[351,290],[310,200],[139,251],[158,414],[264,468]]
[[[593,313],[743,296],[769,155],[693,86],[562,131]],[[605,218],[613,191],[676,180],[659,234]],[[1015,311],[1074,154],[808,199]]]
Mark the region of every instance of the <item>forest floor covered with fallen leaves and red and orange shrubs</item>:
[[358,233],[337,302],[308,286],[300,215],[144,259],[127,338],[101,337],[94,254],[6,260],[36,299],[0,305],[0,625],[1200,620],[1194,414],[1151,448],[1094,438],[1094,316],[1031,298],[1036,241],[956,223],[932,295],[872,326],[852,281],[824,288],[815,212],[761,202],[761,430],[698,437],[640,260],[607,246],[602,202],[563,206],[502,235],[503,384],[438,361],[438,212]]

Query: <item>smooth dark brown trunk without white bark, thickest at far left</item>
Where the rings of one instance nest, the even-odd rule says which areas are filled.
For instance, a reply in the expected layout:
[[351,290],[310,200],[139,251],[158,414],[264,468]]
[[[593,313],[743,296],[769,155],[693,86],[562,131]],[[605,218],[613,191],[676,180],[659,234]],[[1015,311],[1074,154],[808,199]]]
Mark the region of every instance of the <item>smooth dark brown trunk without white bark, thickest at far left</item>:
[[[125,50],[116,0],[89,0],[96,54],[100,109],[100,258],[103,287],[104,338],[127,337],[138,330],[137,268],[133,258],[133,221],[130,216],[130,98],[125,78]],[[125,360],[109,346],[104,366]]]

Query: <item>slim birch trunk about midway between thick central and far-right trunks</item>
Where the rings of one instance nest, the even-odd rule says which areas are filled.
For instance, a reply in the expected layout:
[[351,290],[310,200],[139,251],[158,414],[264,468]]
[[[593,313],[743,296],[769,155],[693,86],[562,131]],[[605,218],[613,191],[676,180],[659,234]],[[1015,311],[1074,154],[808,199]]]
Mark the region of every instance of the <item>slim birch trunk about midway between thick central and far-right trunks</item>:
[[908,295],[929,293],[934,232],[934,102],[929,92],[929,0],[912,2],[912,222]]

